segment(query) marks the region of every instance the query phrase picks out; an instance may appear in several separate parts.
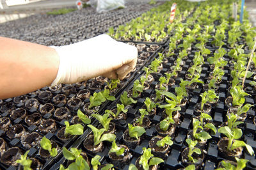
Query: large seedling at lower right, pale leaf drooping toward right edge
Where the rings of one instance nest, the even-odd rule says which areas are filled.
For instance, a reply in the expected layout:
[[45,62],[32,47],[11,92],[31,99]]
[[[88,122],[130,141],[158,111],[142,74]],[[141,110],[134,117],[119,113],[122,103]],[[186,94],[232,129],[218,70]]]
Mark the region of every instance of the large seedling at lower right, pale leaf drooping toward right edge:
[[227,146],[228,151],[232,151],[232,150],[235,150],[236,148],[245,146],[248,153],[250,153],[250,155],[254,154],[252,146],[244,143],[244,141],[237,140],[237,139],[240,139],[243,135],[243,132],[240,128],[230,129],[228,126],[225,126],[225,127],[220,127],[218,129],[218,132],[228,137],[228,146]]

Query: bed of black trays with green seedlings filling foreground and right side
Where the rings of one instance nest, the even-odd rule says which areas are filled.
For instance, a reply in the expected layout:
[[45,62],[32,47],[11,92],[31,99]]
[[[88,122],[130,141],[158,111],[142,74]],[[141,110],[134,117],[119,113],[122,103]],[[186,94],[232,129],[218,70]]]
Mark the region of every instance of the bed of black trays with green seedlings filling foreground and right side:
[[168,1],[110,27],[138,49],[123,81],[0,100],[1,169],[255,169],[256,31],[246,12],[231,17],[233,2]]

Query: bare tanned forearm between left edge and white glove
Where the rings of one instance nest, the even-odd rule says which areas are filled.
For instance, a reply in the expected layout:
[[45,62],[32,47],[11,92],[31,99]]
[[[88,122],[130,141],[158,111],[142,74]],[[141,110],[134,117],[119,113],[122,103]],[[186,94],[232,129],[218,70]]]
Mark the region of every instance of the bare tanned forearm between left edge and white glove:
[[50,85],[58,65],[58,54],[50,47],[0,37],[0,98]]

